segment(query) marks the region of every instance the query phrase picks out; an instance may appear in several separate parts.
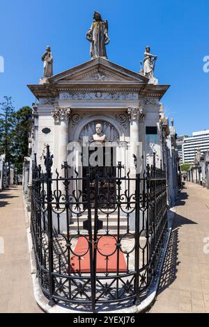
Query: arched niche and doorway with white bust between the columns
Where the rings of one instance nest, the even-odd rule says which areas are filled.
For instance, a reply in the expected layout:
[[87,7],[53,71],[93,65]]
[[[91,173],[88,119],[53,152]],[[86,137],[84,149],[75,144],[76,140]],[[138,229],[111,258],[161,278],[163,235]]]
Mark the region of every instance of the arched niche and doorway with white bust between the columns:
[[[91,207],[95,204],[95,177],[101,180],[102,193],[100,198],[108,194],[114,200],[116,197],[116,166],[119,135],[116,128],[105,120],[93,120],[84,126],[79,136],[82,148],[82,176],[90,175]],[[107,182],[108,177],[108,182]],[[86,183],[82,185],[86,193]],[[111,207],[111,203],[109,207]]]

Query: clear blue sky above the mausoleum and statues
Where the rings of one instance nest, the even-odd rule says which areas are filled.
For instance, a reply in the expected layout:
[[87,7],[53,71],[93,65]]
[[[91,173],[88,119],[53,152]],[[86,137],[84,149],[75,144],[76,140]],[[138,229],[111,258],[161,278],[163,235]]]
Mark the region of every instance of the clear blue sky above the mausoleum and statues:
[[155,76],[171,88],[162,102],[178,134],[209,129],[208,0],[18,0],[1,1],[0,99],[11,95],[15,108],[34,102],[26,87],[42,77],[46,45],[54,74],[89,60],[85,33],[93,11],[109,21],[110,61],[139,72],[144,47],[157,54]]

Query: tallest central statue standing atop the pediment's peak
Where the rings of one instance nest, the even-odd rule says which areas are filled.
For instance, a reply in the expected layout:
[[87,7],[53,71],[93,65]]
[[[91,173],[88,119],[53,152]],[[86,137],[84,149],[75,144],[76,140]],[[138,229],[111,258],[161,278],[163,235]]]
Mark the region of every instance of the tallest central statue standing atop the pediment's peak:
[[105,22],[102,20],[102,16],[98,11],[95,11],[93,14],[93,23],[86,33],[86,39],[91,42],[91,58],[107,58],[106,45],[109,43],[108,22],[107,20]]

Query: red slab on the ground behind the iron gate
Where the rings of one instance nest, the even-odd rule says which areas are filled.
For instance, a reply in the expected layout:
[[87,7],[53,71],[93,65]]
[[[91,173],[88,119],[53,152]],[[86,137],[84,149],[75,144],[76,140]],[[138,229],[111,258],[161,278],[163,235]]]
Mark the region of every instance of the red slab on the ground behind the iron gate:
[[[97,268],[98,273],[116,273],[117,271],[117,251],[116,249],[116,239],[114,237],[101,237],[98,241],[98,250],[97,250]],[[86,253],[87,251],[87,253]],[[100,254],[100,252],[103,254]],[[111,253],[113,253],[110,255]],[[88,242],[86,238],[79,237],[77,244],[75,246],[74,253],[81,255],[81,259],[77,255],[71,256],[70,266],[71,273],[90,273],[90,256],[88,249]],[[85,254],[86,253],[86,254]],[[104,255],[109,255],[108,257]],[[123,273],[127,269],[125,263],[125,257],[121,250],[119,251],[119,269],[118,271]]]

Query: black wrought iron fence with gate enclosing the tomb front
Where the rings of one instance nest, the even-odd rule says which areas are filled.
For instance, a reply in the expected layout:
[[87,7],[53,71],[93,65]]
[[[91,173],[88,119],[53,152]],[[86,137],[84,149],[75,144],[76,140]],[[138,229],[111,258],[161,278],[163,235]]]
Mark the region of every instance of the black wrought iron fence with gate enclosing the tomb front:
[[56,170],[54,178],[52,159],[48,146],[42,172],[35,156],[31,205],[37,276],[49,304],[96,312],[137,303],[167,231],[165,172],[154,161],[122,177],[119,163],[116,177],[95,176],[93,206],[90,175],[79,177],[65,162],[63,177]]

